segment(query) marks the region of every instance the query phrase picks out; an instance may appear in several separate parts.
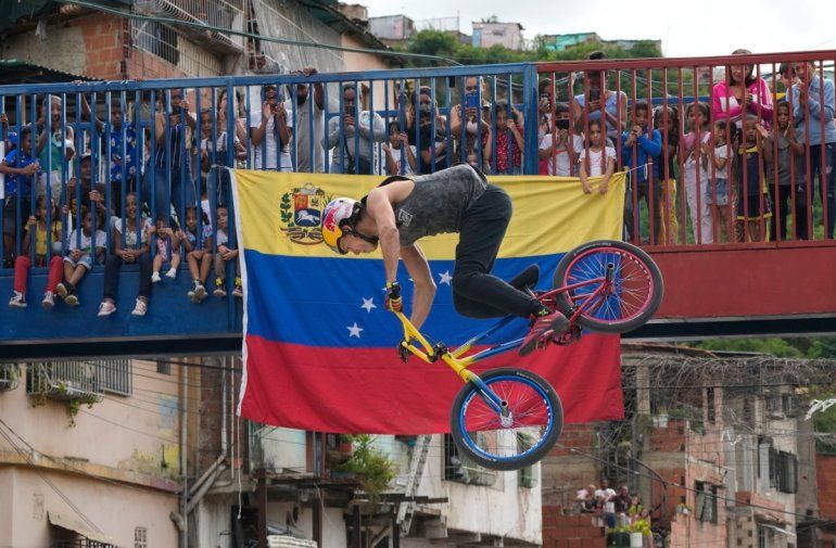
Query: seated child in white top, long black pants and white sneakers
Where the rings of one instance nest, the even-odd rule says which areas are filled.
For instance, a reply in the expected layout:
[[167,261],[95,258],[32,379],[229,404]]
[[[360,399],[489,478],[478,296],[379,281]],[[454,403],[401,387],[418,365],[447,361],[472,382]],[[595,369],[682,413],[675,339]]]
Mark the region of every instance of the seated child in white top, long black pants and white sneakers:
[[138,219],[138,209],[136,194],[126,195],[125,217],[118,219],[113,227],[114,251],[107,256],[104,265],[104,294],[99,305],[99,317],[116,311],[116,291],[123,264],[139,265],[139,294],[130,314],[144,316],[148,311],[148,298],[151,293],[151,247],[148,242],[152,225],[147,217]]

